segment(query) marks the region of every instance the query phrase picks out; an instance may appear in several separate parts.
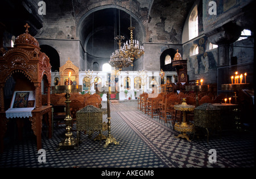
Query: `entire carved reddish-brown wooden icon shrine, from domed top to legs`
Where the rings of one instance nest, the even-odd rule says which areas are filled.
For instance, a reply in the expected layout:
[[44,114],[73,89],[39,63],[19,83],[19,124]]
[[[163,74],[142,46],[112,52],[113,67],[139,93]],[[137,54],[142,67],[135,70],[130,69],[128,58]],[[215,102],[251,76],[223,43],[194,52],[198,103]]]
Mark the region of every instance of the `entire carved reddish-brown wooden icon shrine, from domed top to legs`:
[[[50,91],[51,91],[51,65],[48,56],[40,52],[38,40],[28,34],[28,24],[26,32],[19,35],[14,42],[14,47],[8,51],[0,49],[0,140],[1,149],[3,148],[3,136],[6,132],[6,126],[9,119],[5,116],[4,88],[9,77],[18,73],[28,79],[28,84],[19,85],[20,90],[27,86],[35,91],[35,111],[30,117],[34,134],[38,137],[38,148],[40,147],[42,115],[51,111]],[[23,73],[23,75],[20,75]],[[18,78],[19,80],[19,78]],[[18,81],[17,80],[17,81]],[[47,88],[47,106],[42,107],[42,81]],[[17,84],[17,83],[16,83]],[[16,85],[17,86],[17,85]],[[51,120],[51,116],[49,116]],[[40,134],[39,134],[40,133]]]

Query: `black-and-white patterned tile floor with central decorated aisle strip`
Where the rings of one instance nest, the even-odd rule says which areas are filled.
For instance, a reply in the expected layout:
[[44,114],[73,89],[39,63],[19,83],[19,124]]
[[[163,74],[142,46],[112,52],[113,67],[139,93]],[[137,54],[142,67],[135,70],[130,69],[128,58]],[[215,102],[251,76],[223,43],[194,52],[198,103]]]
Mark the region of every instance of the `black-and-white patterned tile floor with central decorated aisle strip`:
[[[102,103],[106,108],[106,103]],[[222,140],[210,136],[191,142],[175,138],[179,132],[172,129],[171,122],[164,123],[157,117],[151,118],[137,109],[137,102],[110,104],[111,134],[119,145],[105,141],[94,141],[81,135],[79,150],[60,149],[64,139],[64,125],[55,128],[52,139],[42,135],[42,148],[46,151],[46,163],[39,163],[33,135],[23,141],[7,142],[0,154],[0,167],[22,168],[254,168],[254,135],[252,132],[224,132]],[[103,116],[104,121],[106,115]],[[74,126],[75,130],[76,125]],[[104,131],[104,135],[108,132]],[[73,132],[76,137],[76,132]],[[209,149],[216,150],[216,163],[209,163]]]

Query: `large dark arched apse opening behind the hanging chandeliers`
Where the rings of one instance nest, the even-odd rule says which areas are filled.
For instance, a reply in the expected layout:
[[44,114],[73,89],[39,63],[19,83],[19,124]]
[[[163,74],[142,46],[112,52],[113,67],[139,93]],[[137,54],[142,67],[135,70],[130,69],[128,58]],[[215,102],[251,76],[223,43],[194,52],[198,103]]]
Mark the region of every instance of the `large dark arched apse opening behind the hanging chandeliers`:
[[[116,5],[95,7],[80,18],[76,33],[85,51],[84,59],[87,69],[93,69],[94,62],[97,62],[100,66],[108,63],[110,56],[118,48],[118,41],[115,41],[114,38],[119,33],[125,36],[122,43],[130,39],[128,29],[130,22],[131,26],[135,27],[133,38],[138,40],[140,44],[143,43],[144,38],[146,38],[143,23],[131,11],[123,7]],[[125,70],[133,69],[136,69],[135,66]]]

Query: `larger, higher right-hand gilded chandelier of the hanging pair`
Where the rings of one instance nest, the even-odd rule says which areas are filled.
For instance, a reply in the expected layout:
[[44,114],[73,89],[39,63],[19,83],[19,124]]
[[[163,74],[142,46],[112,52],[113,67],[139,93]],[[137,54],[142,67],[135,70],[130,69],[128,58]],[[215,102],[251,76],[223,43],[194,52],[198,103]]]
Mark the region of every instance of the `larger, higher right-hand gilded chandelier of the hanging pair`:
[[[139,59],[144,54],[144,47],[142,45],[139,45],[138,40],[133,39],[133,31],[135,27],[129,27],[130,30],[130,40],[128,43],[128,40],[125,44],[123,44],[123,47],[121,48],[122,56],[123,57],[130,57],[131,61],[134,61],[134,59]],[[133,64],[131,64],[133,66]]]

